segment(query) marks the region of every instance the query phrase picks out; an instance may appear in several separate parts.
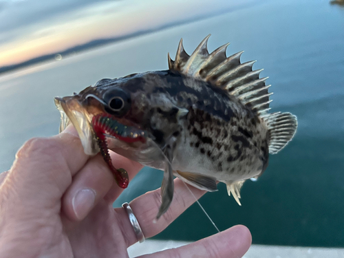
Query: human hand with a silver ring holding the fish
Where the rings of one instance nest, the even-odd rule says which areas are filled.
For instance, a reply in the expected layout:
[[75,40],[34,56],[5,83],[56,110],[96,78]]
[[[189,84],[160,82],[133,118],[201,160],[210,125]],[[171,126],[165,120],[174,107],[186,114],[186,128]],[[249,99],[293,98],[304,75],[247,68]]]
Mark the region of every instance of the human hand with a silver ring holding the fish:
[[[131,180],[142,165],[111,153]],[[204,191],[189,186],[196,197]],[[123,208],[122,193],[100,155],[85,155],[73,127],[51,138],[34,138],[18,151],[10,171],[0,174],[0,257],[128,257],[137,237]],[[153,224],[160,189],[130,204],[145,237],[153,237],[194,202],[175,179],[169,210]],[[251,235],[244,226],[193,244],[142,257],[242,257]]]

